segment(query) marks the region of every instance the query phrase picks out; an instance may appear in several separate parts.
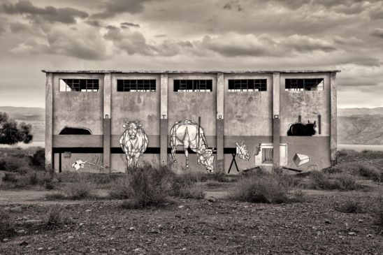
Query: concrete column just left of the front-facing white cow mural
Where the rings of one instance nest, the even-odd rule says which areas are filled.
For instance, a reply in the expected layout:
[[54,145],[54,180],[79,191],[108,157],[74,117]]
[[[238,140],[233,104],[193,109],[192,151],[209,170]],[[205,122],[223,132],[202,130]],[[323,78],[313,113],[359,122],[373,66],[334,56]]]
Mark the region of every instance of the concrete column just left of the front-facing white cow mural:
[[110,173],[112,74],[103,76],[103,172]]

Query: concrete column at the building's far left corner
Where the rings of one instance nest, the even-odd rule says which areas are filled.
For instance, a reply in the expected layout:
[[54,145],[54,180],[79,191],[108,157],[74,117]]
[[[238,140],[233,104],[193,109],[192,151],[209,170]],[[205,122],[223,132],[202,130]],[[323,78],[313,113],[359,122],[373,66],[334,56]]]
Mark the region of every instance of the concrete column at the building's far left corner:
[[[58,86],[58,85],[57,85]],[[53,74],[46,73],[45,82],[45,169],[54,171],[52,154]]]

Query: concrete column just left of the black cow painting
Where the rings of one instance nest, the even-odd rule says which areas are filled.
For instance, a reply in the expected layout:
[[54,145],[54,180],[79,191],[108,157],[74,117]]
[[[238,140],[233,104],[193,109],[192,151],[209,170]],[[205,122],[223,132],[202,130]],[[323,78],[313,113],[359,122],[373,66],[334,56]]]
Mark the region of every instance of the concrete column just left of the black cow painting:
[[280,166],[280,73],[273,73],[273,163]]

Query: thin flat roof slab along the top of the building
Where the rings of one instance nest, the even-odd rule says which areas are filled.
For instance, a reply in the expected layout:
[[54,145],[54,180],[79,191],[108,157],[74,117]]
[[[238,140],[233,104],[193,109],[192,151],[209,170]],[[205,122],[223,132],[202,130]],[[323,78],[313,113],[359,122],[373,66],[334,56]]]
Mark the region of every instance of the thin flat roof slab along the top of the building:
[[43,73],[340,73],[340,70],[265,70],[265,71],[147,71],[147,70],[41,70]]

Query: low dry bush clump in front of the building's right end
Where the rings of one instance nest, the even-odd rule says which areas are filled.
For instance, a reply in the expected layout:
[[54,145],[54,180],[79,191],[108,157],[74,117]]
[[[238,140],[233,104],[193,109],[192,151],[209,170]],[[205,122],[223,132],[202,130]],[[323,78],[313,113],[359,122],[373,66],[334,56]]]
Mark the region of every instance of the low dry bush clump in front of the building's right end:
[[359,185],[356,184],[356,177],[349,173],[326,174],[321,171],[312,171],[309,177],[310,182],[308,188],[310,189],[339,189],[349,191],[360,188]]

